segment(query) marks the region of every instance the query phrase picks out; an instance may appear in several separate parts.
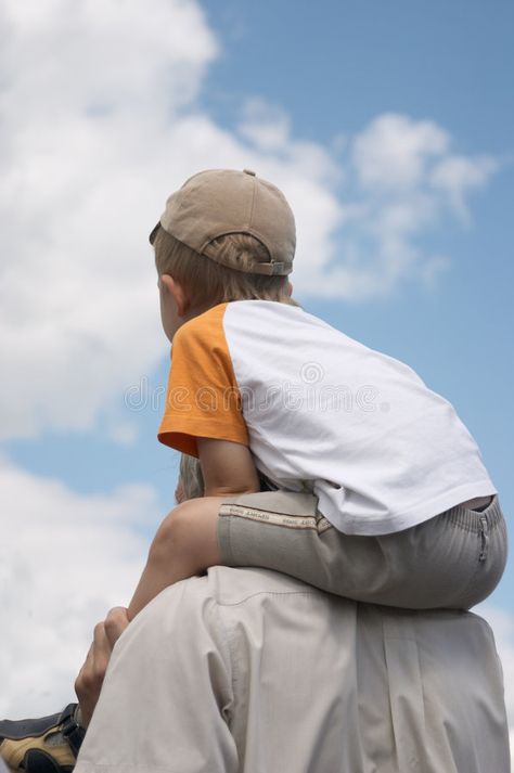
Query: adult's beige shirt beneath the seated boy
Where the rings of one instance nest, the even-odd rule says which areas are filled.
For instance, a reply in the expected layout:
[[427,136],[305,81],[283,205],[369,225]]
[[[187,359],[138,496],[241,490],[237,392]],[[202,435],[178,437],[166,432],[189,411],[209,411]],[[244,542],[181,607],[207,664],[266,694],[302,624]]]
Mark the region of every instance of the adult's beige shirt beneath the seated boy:
[[92,771],[509,773],[491,630],[215,567],[118,641],[75,769]]

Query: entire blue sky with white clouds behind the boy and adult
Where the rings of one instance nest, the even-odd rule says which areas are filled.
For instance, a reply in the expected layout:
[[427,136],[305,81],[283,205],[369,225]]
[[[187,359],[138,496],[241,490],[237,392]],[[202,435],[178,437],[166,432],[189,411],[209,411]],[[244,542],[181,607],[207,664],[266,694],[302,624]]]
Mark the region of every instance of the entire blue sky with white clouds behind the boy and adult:
[[[512,487],[514,5],[0,0],[0,714],[72,699],[174,505],[147,234],[205,168],[297,219],[311,313],[455,407]],[[476,609],[514,729],[514,574]]]

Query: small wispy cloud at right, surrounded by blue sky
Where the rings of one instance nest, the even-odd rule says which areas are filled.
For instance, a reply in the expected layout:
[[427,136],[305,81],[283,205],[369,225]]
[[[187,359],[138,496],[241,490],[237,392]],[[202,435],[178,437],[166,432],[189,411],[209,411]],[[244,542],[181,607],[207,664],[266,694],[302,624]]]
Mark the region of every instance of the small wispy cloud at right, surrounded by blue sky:
[[449,132],[431,120],[384,114],[344,146],[349,201],[337,233],[338,261],[309,278],[312,293],[360,301],[386,296],[406,279],[433,287],[451,260],[423,247],[448,215],[470,222],[470,194],[500,162],[458,156]]

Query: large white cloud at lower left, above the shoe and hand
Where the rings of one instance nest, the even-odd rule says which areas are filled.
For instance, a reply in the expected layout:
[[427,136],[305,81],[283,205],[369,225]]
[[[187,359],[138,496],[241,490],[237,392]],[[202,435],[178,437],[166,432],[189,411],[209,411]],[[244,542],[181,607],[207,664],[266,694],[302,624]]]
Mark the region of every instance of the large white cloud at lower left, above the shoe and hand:
[[93,626],[130,600],[159,514],[150,487],[80,495],[5,461],[0,488],[0,717],[37,717],[73,698]]

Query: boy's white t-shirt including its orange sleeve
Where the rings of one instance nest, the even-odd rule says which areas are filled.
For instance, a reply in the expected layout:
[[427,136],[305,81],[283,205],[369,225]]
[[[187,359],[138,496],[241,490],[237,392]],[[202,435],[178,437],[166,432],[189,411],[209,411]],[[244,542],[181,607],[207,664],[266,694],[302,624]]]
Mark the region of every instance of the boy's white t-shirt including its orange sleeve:
[[275,301],[220,304],[179,328],[158,437],[195,456],[196,437],[247,445],[278,488],[313,492],[346,533],[497,493],[453,407],[411,368]]

